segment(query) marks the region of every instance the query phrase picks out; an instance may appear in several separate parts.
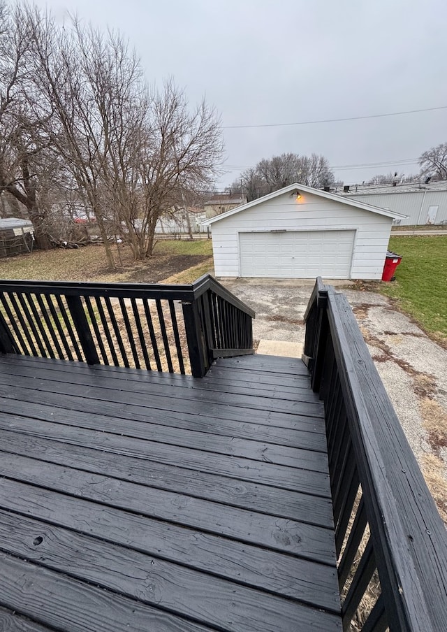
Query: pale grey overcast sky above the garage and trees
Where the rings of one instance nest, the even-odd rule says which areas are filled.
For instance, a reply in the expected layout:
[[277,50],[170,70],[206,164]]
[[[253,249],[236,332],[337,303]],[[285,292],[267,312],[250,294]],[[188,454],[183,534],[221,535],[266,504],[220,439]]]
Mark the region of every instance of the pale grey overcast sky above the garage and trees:
[[[447,106],[446,0],[38,1],[118,28],[150,84],[172,76],[191,103],[205,95],[223,127],[298,123]],[[447,142],[447,109],[344,122],[224,129],[228,185],[282,152],[323,154],[362,182],[417,173]],[[414,164],[406,164],[412,160]],[[393,164],[385,164],[390,163]],[[401,162],[402,164],[394,164]],[[337,167],[380,163],[367,168]]]

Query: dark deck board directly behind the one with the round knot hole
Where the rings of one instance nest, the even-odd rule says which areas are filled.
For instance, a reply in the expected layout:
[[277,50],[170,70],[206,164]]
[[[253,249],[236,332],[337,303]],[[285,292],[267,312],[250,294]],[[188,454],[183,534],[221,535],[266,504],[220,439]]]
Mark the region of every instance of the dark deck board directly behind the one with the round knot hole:
[[335,568],[107,505],[98,510],[94,502],[66,494],[45,494],[39,488],[28,502],[31,487],[10,480],[6,480],[5,488],[9,495],[1,494],[2,506],[18,516],[17,522],[23,516],[33,517],[272,594],[302,601],[312,596],[321,608],[332,609],[337,592]]

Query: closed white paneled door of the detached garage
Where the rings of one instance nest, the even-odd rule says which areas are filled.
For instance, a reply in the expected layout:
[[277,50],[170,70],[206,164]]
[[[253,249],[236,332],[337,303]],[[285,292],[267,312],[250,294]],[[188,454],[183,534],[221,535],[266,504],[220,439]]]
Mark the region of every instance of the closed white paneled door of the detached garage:
[[356,231],[240,233],[243,277],[349,279]]

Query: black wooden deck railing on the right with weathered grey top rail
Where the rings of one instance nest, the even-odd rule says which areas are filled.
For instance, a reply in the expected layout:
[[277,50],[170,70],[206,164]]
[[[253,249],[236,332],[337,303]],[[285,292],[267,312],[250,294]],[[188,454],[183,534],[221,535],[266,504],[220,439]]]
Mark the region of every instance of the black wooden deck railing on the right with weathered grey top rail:
[[305,322],[325,404],[344,629],[360,607],[364,632],[446,631],[446,529],[346,297],[318,278]]

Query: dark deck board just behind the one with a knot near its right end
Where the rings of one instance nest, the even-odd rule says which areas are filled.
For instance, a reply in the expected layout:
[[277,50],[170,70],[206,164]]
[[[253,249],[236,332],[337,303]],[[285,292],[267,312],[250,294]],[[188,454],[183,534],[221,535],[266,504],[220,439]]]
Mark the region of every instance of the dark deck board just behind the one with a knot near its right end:
[[[307,522],[332,529],[330,499],[253,483],[179,466],[149,463],[135,457],[117,457],[107,452],[94,452],[89,447],[54,443],[42,438],[29,438],[17,433],[1,433],[0,475],[33,482],[34,470],[47,471],[45,464],[76,468],[83,472],[166,489],[194,498],[222,503]],[[20,473],[17,474],[17,470]],[[140,491],[134,490],[134,493]]]

